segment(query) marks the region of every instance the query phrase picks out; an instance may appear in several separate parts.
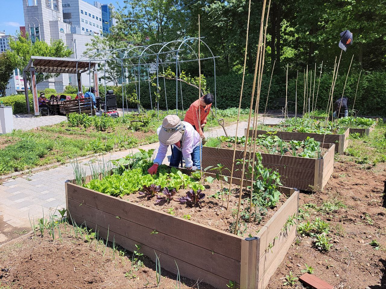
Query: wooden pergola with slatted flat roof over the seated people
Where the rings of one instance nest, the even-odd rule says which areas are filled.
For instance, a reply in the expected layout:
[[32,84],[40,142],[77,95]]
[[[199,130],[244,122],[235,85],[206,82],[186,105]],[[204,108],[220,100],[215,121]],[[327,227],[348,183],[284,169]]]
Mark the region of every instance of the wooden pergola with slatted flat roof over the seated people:
[[[31,88],[32,95],[34,97],[34,113],[35,116],[39,115],[39,104],[38,104],[38,96],[36,89],[36,73],[54,73],[54,74],[76,74],[78,79],[78,92],[82,91],[82,82],[81,82],[81,74],[87,71],[93,71],[94,74],[94,87],[96,90],[96,97],[99,96],[98,89],[98,72],[97,72],[98,64],[96,62],[91,61],[81,61],[78,59],[71,58],[59,58],[59,57],[45,57],[45,56],[31,56],[31,59],[28,62],[28,65],[23,70],[24,81],[27,80],[26,72],[29,71],[31,73]],[[91,84],[91,83],[90,83]],[[27,104],[27,111],[30,113],[29,109],[29,99],[28,99],[28,89],[27,85],[25,85],[25,100]]]

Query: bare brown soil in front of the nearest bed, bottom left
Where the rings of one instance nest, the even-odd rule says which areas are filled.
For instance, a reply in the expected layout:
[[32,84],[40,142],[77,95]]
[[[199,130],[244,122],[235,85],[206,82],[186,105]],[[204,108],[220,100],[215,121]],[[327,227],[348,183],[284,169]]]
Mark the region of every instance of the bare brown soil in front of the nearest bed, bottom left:
[[[15,239],[0,247],[0,288],[155,288],[154,263],[140,257],[143,266],[132,265],[132,255],[124,250],[113,253],[103,245],[76,238],[74,232],[63,230],[63,242],[49,237],[32,235]],[[119,249],[118,249],[119,250]],[[113,255],[115,256],[113,258]],[[162,260],[162,256],[160,256]],[[159,288],[175,288],[176,276],[161,271]],[[200,281],[181,277],[181,288],[211,288]],[[196,284],[196,285],[195,285]]]

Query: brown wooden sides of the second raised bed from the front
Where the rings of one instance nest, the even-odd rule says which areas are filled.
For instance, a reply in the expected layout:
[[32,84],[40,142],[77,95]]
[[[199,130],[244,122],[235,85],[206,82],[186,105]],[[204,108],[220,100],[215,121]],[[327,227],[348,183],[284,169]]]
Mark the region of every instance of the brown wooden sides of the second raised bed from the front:
[[[261,162],[264,167],[277,170],[281,176],[281,183],[286,187],[305,191],[322,190],[334,169],[335,144],[325,143],[324,148],[328,148],[328,151],[320,159],[261,153]],[[243,155],[244,151],[236,150],[235,160],[242,159]],[[231,149],[206,146],[202,149],[203,168],[221,163],[225,168],[232,169],[232,160]],[[242,165],[236,165],[235,162],[233,176],[241,178],[241,170]],[[223,175],[230,176],[230,172],[224,170]]]

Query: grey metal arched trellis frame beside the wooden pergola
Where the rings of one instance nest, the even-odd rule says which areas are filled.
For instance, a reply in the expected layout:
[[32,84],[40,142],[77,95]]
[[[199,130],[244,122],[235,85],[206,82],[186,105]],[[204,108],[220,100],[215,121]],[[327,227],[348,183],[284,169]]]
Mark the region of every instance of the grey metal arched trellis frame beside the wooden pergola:
[[[194,42],[201,42],[208,50],[208,57],[203,57],[199,59],[194,46]],[[160,47],[157,51],[156,47]],[[165,51],[167,49],[167,51]],[[188,55],[188,59],[184,59]],[[180,83],[178,89],[178,82],[180,81],[179,75],[181,74],[181,65],[186,62],[191,61],[200,61],[200,60],[213,60],[213,73],[214,73],[214,97],[215,97],[215,117],[217,117],[217,87],[216,87],[216,58],[210,49],[210,47],[203,41],[203,37],[189,37],[184,40],[173,40],[164,43],[156,43],[150,45],[128,45],[125,48],[117,49],[104,49],[90,51],[76,60],[76,84],[78,87],[78,93],[80,92],[79,80],[78,80],[78,62],[89,62],[89,68],[91,67],[91,62],[93,63],[103,63],[103,73],[105,81],[105,103],[106,103],[106,66],[109,67],[111,63],[116,62],[119,64],[121,73],[119,79],[121,79],[122,84],[122,110],[124,114],[124,99],[127,102],[127,91],[126,84],[134,83],[135,84],[135,93],[137,94],[137,101],[141,102],[141,81],[148,82],[149,85],[149,97],[151,102],[151,108],[153,109],[152,96],[151,96],[151,86],[150,82],[157,80],[157,95],[159,96],[159,69],[160,65],[162,66],[162,71],[165,71],[165,65],[175,65],[175,74],[176,74],[176,114],[178,115],[178,93],[181,96],[181,107],[183,114],[185,113],[183,107],[183,95],[182,95],[182,83]],[[174,60],[173,60],[174,59]],[[118,65],[116,66],[119,67]],[[141,79],[141,67],[144,66],[144,78]],[[94,68],[97,69],[97,68]],[[151,70],[154,69],[154,74]],[[129,71],[134,72],[134,79]],[[146,75],[147,73],[147,75]],[[151,75],[152,74],[152,75]],[[118,76],[118,73],[117,73]],[[151,77],[152,76],[152,77]],[[146,79],[147,77],[147,79]],[[95,78],[95,76],[94,76]],[[91,86],[91,72],[89,71],[89,81]],[[98,81],[98,80],[97,80]],[[94,82],[97,83],[97,81]],[[168,113],[168,96],[166,91],[166,82],[165,77],[164,81],[164,91],[165,91],[165,102],[166,102],[166,111]],[[91,111],[93,110],[93,104],[91,102]],[[127,103],[126,103],[127,108]],[[139,109],[139,104],[138,104]],[[159,100],[157,100],[157,111],[159,116]],[[91,112],[92,113],[92,112]]]

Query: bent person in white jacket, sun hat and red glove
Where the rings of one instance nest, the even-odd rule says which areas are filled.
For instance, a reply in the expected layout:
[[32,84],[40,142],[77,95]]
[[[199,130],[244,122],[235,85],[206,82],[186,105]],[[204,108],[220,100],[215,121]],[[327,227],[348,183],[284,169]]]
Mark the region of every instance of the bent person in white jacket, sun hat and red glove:
[[157,129],[159,148],[154,165],[147,170],[149,174],[157,173],[158,166],[162,163],[168,151],[168,146],[173,145],[173,154],[170,166],[178,166],[182,156],[188,170],[200,170],[200,134],[190,123],[181,121],[175,114],[164,118],[162,125]]

